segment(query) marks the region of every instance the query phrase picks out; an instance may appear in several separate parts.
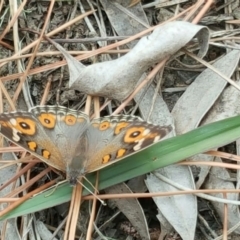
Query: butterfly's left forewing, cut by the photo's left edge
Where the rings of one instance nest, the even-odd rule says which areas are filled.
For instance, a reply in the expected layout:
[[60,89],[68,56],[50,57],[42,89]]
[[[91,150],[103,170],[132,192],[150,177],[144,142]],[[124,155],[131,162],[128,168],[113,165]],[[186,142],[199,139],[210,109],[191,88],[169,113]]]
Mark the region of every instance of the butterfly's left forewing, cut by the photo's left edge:
[[60,152],[55,148],[38,119],[29,112],[0,114],[0,133],[15,144],[23,147],[51,166],[63,170],[58,164]]

